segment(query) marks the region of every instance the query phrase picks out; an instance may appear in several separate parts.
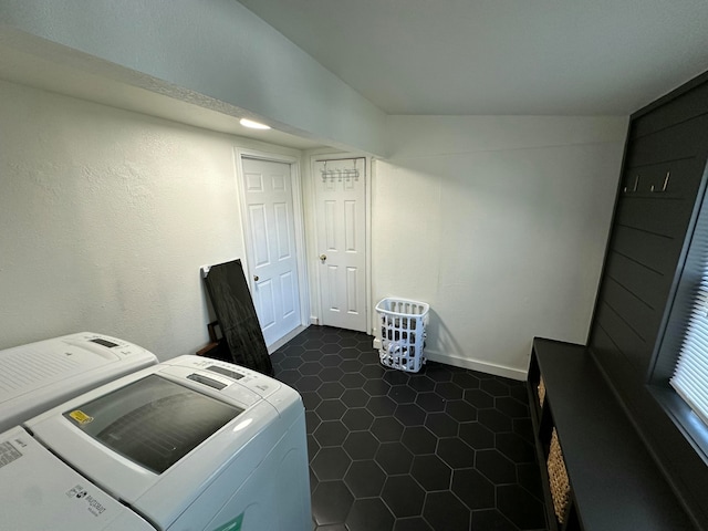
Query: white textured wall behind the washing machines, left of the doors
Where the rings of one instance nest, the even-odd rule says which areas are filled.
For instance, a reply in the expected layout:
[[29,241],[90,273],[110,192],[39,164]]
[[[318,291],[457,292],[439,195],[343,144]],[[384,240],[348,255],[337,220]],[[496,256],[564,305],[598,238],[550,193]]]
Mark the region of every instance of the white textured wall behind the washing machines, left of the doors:
[[199,267],[243,258],[237,137],[0,82],[0,348],[88,330],[207,341]]

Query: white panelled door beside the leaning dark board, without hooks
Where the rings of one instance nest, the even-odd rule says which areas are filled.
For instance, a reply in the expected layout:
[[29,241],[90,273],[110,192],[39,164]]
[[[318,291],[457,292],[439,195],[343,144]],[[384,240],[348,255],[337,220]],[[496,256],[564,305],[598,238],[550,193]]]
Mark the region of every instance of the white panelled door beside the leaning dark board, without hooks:
[[241,159],[247,260],[267,345],[300,325],[300,288],[290,164]]

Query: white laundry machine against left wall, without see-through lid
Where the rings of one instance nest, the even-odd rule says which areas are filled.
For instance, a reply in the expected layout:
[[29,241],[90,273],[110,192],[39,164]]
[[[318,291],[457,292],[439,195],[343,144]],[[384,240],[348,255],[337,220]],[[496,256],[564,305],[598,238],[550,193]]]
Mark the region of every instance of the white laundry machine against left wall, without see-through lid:
[[0,431],[156,363],[140,346],[91,332],[0,351]]

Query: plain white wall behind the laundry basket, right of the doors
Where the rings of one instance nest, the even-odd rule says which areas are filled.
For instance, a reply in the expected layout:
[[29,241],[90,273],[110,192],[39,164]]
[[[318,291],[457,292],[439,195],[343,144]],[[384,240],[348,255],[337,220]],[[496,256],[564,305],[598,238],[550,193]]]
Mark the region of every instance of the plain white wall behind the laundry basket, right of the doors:
[[626,117],[389,117],[373,295],[428,302],[431,358],[525,377],[533,336],[584,343]]

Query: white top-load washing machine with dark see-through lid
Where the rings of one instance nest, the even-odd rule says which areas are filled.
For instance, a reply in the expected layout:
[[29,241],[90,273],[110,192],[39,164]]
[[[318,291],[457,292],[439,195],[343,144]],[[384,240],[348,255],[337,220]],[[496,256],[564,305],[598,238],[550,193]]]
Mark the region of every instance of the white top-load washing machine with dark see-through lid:
[[0,529],[312,529],[300,395],[181,356],[0,435]]

